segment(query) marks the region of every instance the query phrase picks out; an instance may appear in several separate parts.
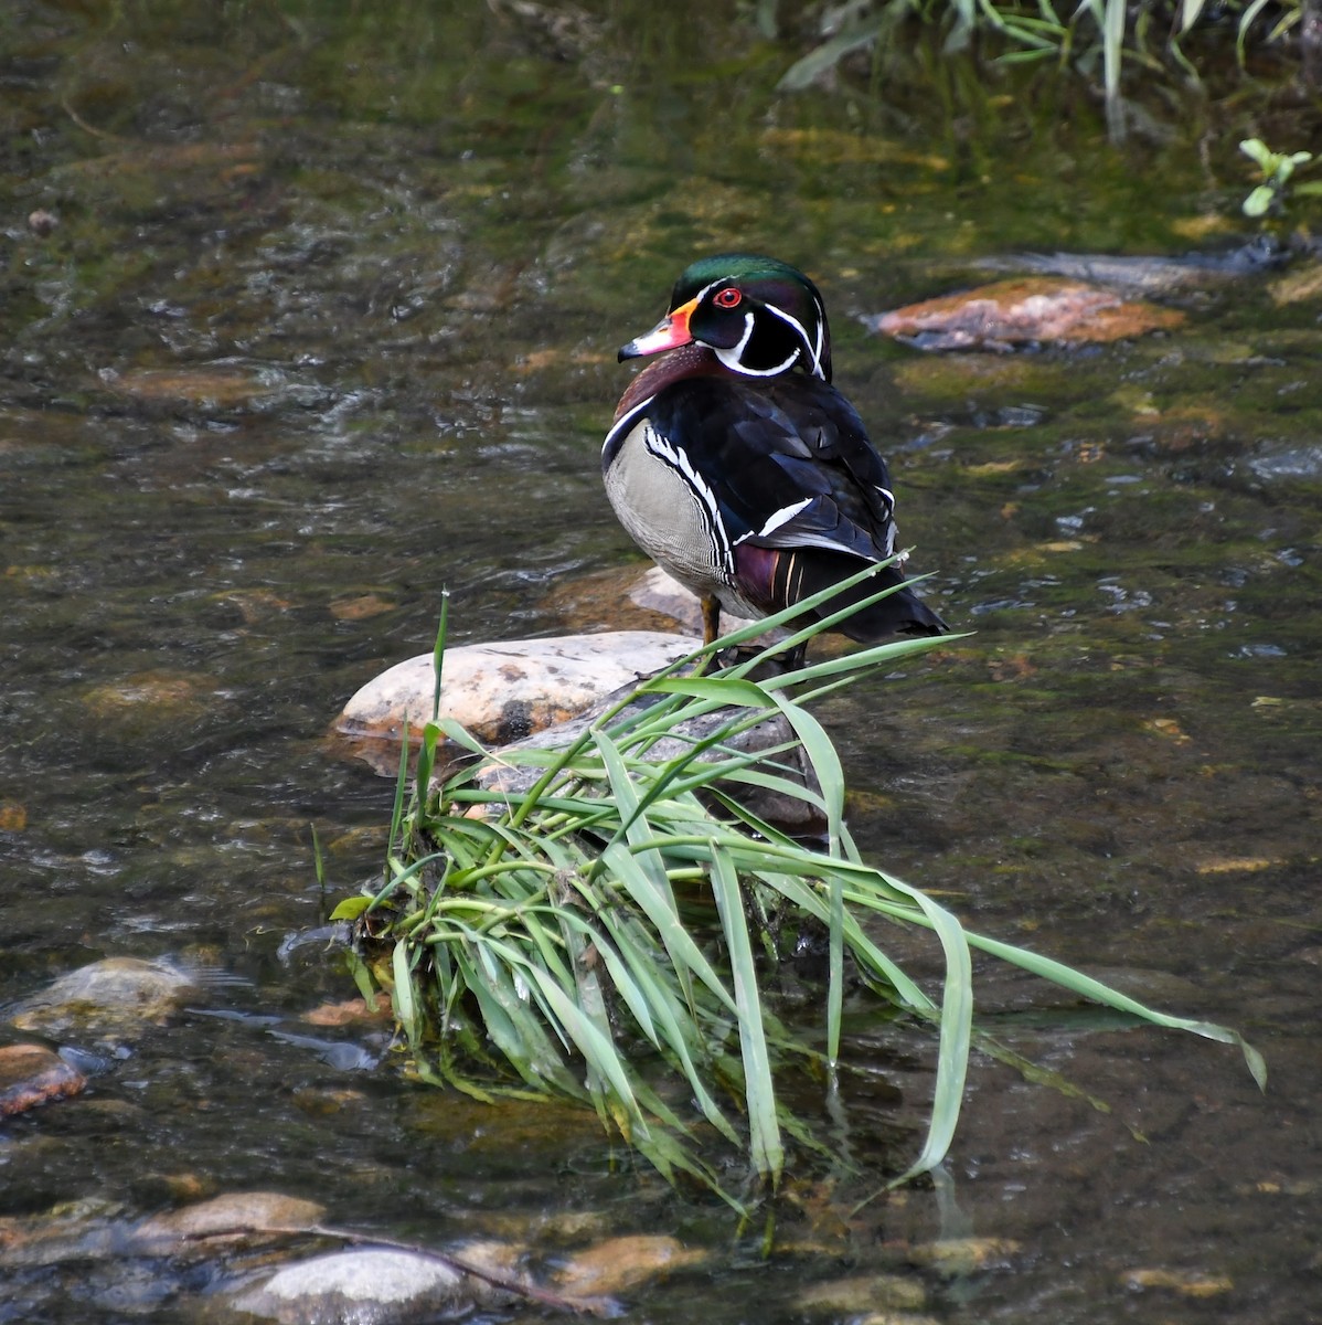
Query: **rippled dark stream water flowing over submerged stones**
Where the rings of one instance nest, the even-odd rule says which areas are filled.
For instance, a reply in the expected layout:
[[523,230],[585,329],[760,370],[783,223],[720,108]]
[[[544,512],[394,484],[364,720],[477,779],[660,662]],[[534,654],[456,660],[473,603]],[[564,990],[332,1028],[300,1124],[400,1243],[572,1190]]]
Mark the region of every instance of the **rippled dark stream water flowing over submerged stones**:
[[[796,1320],[804,1283],[880,1269],[950,1322],[1317,1318],[1319,285],[1303,258],[1167,282],[1183,326],[1068,352],[860,319],[1025,250],[1232,249],[1262,123],[1236,117],[1318,118],[1204,106],[1201,151],[1114,148],[1041,83],[776,94],[796,15],[0,19],[0,1003],[107,955],[201,973],[86,1094],[0,1128],[0,1216],[273,1187],[436,1244],[677,1232],[710,1259],[636,1301],[657,1321]],[[431,647],[442,587],[461,640],[612,624],[593,576],[641,568],[597,472],[615,347],[731,246],[823,286],[914,564],[974,632],[823,705],[864,849],[1272,1072],[1260,1096],[1232,1049],[988,967],[987,1027],[1110,1112],[980,1059],[948,1181],[862,1211],[791,1182],[770,1260],[593,1120],[442,1096],[302,1019],[352,994],[303,935],[379,869],[392,794],[331,721]],[[850,1015],[841,1142],[893,1173],[931,1047]],[[941,1273],[913,1251],[939,1234],[1003,1247]],[[192,1320],[201,1287],[29,1267],[0,1320]]]

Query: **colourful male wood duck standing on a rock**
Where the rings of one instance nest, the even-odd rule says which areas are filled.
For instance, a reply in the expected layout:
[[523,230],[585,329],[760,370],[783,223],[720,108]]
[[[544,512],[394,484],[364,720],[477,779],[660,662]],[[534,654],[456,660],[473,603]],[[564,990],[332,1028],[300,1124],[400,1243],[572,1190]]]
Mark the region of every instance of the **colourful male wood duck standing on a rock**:
[[[894,555],[886,462],[831,386],[827,310],[808,277],[748,253],[702,258],[620,360],[652,354],[616,407],[601,473],[633,541],[701,599],[703,643],[722,608],[767,616]],[[804,620],[903,579],[897,562]],[[897,588],[837,628],[874,641],[947,625]]]

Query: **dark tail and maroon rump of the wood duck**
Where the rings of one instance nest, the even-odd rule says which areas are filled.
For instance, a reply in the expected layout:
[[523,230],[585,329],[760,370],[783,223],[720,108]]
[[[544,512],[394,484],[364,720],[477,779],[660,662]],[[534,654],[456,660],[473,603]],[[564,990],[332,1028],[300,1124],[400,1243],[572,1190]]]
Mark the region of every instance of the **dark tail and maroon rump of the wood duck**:
[[[766,603],[767,612],[779,612],[857,575],[862,564],[861,558],[820,547],[774,549],[744,543],[739,547],[737,574],[740,587],[754,602]],[[861,583],[841,590],[805,616],[821,620],[850,603],[870,598],[878,590],[903,583],[903,571],[886,566]],[[846,617],[835,629],[860,644],[874,644],[891,635],[946,635],[950,627],[913,590],[897,588],[880,603]]]

